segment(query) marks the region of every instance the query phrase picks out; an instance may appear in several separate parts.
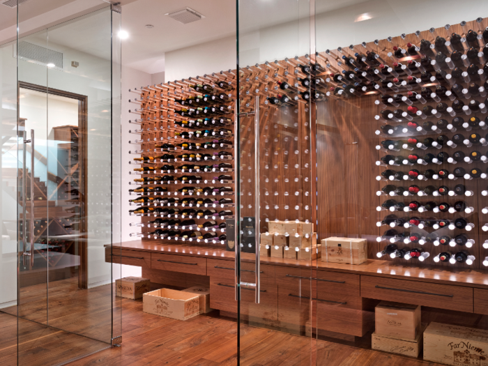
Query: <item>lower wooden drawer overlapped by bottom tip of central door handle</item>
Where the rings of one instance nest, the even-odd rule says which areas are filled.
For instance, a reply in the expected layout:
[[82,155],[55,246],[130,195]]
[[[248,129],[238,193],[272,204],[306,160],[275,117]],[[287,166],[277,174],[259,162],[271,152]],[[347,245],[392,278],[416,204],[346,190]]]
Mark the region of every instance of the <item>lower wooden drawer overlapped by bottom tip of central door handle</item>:
[[[241,314],[258,319],[277,320],[277,287],[261,285],[260,303],[254,302],[254,289],[241,289]],[[210,307],[237,313],[234,284],[225,280],[211,280]]]

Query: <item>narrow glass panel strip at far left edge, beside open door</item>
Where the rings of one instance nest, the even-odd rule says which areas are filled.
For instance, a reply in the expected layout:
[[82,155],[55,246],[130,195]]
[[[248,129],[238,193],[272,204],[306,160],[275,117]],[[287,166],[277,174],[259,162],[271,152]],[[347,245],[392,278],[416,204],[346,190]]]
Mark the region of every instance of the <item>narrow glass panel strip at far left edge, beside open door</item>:
[[[0,40],[0,364],[17,363],[17,9],[1,12]],[[22,250],[22,248],[20,248]]]

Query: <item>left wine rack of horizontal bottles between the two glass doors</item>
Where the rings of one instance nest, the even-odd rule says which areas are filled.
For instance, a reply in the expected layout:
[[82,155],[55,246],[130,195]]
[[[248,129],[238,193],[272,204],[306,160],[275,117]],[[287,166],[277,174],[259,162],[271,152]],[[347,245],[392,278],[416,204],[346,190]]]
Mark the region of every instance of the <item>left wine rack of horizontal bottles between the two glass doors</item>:
[[132,89],[131,236],[221,245],[235,213],[231,71]]

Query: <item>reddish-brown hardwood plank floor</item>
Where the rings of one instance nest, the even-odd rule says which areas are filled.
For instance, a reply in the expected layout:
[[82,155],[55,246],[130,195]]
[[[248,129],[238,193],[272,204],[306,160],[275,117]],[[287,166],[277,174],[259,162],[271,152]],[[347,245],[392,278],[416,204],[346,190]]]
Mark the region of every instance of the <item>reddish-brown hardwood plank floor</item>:
[[[59,282],[59,283],[57,283]],[[73,280],[57,281],[49,291],[49,323],[86,335],[107,337],[110,312],[109,285],[77,290]],[[22,289],[24,310],[31,319],[43,321],[42,303],[36,292],[43,287]],[[45,289],[45,287],[44,287]],[[21,295],[22,296],[22,295]],[[51,300],[53,303],[51,304]],[[40,300],[39,300],[40,301]],[[29,305],[28,305],[29,304]],[[142,299],[119,299],[122,310],[123,342],[121,347],[48,328],[42,323],[20,319],[20,365],[56,365],[82,354],[91,356],[70,363],[89,365],[237,365],[235,319],[220,317],[218,311],[188,321],[178,321],[142,312]],[[13,312],[13,309],[7,309]],[[52,317],[52,320],[51,320]],[[77,320],[75,320],[77,319]],[[0,312],[0,365],[17,365],[17,318]],[[369,337],[369,341],[368,341]],[[332,342],[310,339],[255,326],[241,326],[241,365],[315,365],[319,366],[427,366],[437,365],[420,359],[372,351],[370,336],[359,342]],[[311,350],[314,350],[312,352]],[[313,356],[312,356],[313,355]]]

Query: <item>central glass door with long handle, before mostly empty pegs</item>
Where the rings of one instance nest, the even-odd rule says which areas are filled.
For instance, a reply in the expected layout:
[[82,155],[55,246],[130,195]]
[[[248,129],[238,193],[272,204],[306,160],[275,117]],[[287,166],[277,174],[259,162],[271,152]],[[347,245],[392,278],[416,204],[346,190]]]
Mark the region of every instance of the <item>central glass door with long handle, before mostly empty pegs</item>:
[[[309,1],[238,4],[241,365],[310,365],[317,258]],[[240,249],[240,250],[239,250]]]

